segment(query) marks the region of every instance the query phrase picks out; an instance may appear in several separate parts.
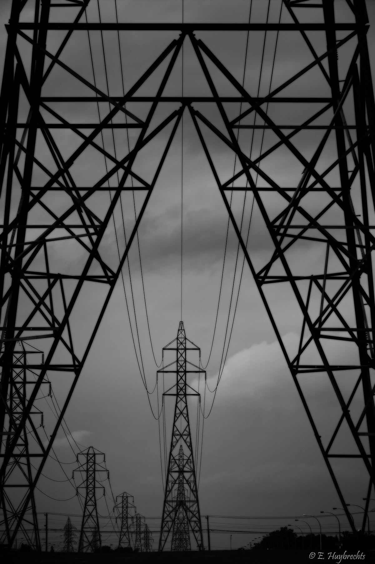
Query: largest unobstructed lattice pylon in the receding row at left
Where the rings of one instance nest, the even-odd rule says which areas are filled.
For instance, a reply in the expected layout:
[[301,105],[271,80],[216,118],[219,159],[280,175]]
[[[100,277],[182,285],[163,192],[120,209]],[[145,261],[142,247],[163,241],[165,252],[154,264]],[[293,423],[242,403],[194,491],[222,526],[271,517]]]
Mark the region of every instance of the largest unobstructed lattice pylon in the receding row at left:
[[95,450],[93,447],[79,452],[77,462],[80,465],[74,472],[80,472],[82,476],[82,482],[77,486],[77,492],[79,488],[85,488],[85,506],[78,552],[94,552],[95,549],[102,546],[96,491],[98,489],[104,490],[102,481],[99,481],[99,475],[104,472],[108,478],[109,472],[106,468],[104,453]]

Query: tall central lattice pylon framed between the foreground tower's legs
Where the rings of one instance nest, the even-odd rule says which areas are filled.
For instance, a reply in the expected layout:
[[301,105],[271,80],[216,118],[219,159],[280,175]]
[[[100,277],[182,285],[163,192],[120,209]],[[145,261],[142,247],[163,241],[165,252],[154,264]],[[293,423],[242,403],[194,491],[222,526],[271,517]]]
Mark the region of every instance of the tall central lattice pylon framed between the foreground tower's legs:
[[[188,347],[186,347],[186,341],[189,343]],[[158,371],[158,373],[176,373],[177,376],[176,385],[163,394],[163,396],[176,396],[176,404],[165,481],[159,550],[164,550],[169,538],[172,543],[171,550],[190,550],[190,532],[194,536],[198,549],[204,549],[189,412],[187,411],[187,395],[199,394],[186,384],[187,373],[199,374],[204,371],[195,364],[187,362],[187,348],[199,351],[199,348],[186,338],[184,323],[180,321],[177,338],[163,348],[163,354],[167,350],[176,351],[176,362],[169,364],[168,369],[163,368]],[[189,387],[188,391],[187,387]]]

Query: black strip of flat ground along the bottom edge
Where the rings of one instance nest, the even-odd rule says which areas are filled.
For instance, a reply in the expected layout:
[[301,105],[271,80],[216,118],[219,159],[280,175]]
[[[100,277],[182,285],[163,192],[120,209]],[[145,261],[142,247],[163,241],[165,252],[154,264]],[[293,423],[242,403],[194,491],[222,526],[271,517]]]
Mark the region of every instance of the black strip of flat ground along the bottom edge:
[[66,554],[66,553],[21,553],[11,552],[0,555],[1,563],[8,562],[31,564],[344,564],[346,562],[375,562],[375,551],[366,552],[322,552],[315,553],[309,550],[212,550],[211,552],[198,553],[138,553],[138,554]]

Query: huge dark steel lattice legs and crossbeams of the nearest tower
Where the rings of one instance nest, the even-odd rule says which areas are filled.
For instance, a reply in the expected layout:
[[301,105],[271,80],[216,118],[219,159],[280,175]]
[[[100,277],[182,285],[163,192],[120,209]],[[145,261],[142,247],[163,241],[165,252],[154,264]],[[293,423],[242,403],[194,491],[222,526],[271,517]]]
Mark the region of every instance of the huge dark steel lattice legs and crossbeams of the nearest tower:
[[[364,530],[375,478],[375,300],[371,258],[375,242],[375,103],[366,40],[367,12],[364,0],[275,1],[287,14],[284,23],[87,23],[84,13],[89,0],[60,0],[58,4],[47,0],[12,2],[0,93],[3,488],[7,486],[8,469],[17,458],[21,437],[47,371],[49,378],[64,374],[71,376],[71,380],[50,442],[47,447],[40,444],[37,469],[24,475],[27,494],[17,505],[16,515],[8,515],[5,498],[1,498],[9,545],[14,543],[24,514],[33,504],[34,488],[184,112],[191,116],[351,523],[334,462],[359,459],[362,464],[366,476]],[[54,20],[54,6],[63,14],[58,21]],[[335,9],[342,6],[346,8],[345,21],[336,21]],[[306,12],[311,16],[307,23],[303,20]],[[168,32],[168,37],[172,34],[173,38],[165,41],[159,56],[152,55],[146,70],[139,73],[127,91],[110,95],[63,59],[72,37],[83,37],[95,30],[152,30]],[[250,34],[267,31],[293,36],[295,48],[300,46],[307,52],[309,63],[279,78],[277,86],[270,85],[268,94],[257,94],[242,85],[204,40],[207,31],[247,30]],[[56,32],[60,38],[56,40],[58,45],[51,41]],[[183,43],[195,54],[208,95],[164,95]],[[25,52],[28,56],[24,56]],[[57,70],[71,81],[64,83],[59,94],[52,80]],[[150,78],[153,87],[145,95]],[[312,85],[318,84],[321,88],[316,92]],[[143,110],[130,112],[133,102]],[[103,108],[105,103],[109,109],[96,120],[77,123],[72,121],[72,114],[56,109],[56,103],[73,108],[73,114],[77,104],[102,104]],[[239,103],[242,109],[238,113]],[[168,107],[166,104],[171,104],[172,111],[155,121],[158,107]],[[215,108],[216,113],[208,108]],[[107,129],[131,130],[135,139],[132,148],[123,146],[117,153],[107,151],[99,142]],[[272,136],[258,155],[249,157],[248,138],[242,133],[257,129]],[[62,143],[61,130],[75,139],[71,147]],[[303,135],[315,143],[312,151],[301,143]],[[233,160],[236,157],[239,169],[235,174],[228,174],[217,162],[212,139],[221,143]],[[160,155],[150,164],[145,151],[156,141]],[[80,174],[82,169],[89,170],[98,156],[110,163],[108,169],[94,179]],[[270,162],[277,156],[281,164],[275,170]],[[154,166],[150,178],[142,174],[142,166],[138,166],[142,162],[147,162],[149,173]],[[280,175],[280,167],[290,173],[286,181]],[[108,191],[111,198],[104,201],[102,193]],[[141,193],[144,199],[114,266],[107,260],[105,233],[112,214],[119,208],[121,195],[128,192]],[[261,259],[248,247],[241,220],[230,206],[229,194],[234,192],[254,196],[271,249]],[[60,245],[72,241],[80,250],[80,261],[56,265],[56,241]],[[295,261],[295,249],[303,245],[304,258]],[[312,248],[316,250],[313,255],[309,254]],[[107,292],[95,311],[94,326],[82,347],[75,339],[80,327],[75,311],[86,285],[105,287]],[[299,335],[294,350],[285,345],[282,321],[277,318],[277,307],[272,301],[272,293],[280,288],[287,288],[295,302]],[[7,433],[12,420],[9,402],[16,369],[14,350],[17,341],[34,339],[42,340],[45,363],[38,367],[23,415],[10,437]],[[343,362],[334,358],[332,343],[347,345],[348,355]],[[334,395],[335,409],[331,415],[335,424],[329,431],[313,415],[304,392],[306,378],[323,378]]]

